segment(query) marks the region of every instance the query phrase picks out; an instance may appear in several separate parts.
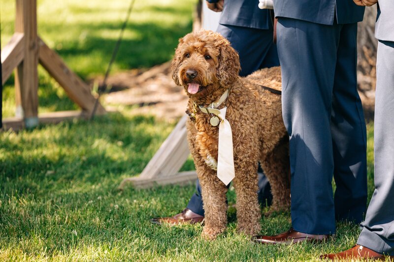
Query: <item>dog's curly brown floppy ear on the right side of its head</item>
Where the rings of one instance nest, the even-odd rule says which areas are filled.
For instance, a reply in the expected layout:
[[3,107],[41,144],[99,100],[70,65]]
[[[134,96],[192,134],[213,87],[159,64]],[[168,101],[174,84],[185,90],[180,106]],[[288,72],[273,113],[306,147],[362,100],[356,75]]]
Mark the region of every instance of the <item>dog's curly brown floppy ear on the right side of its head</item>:
[[238,53],[230,46],[228,41],[220,46],[219,65],[217,68],[217,78],[222,87],[228,86],[238,78],[241,65]]

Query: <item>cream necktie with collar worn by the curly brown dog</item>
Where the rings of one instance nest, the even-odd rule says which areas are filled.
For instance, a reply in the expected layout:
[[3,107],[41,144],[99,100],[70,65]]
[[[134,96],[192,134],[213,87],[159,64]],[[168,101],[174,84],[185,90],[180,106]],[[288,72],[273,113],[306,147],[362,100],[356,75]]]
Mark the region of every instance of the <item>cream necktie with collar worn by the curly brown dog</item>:
[[227,99],[228,95],[229,89],[220,97],[218,102],[212,103],[212,108],[199,107],[201,112],[215,115],[210,120],[213,126],[217,126],[217,122],[212,119],[214,119],[214,117],[220,119],[217,175],[225,185],[230,184],[231,180],[235,177],[232,132],[230,123],[226,119],[227,107],[220,110],[214,107],[220,106]]

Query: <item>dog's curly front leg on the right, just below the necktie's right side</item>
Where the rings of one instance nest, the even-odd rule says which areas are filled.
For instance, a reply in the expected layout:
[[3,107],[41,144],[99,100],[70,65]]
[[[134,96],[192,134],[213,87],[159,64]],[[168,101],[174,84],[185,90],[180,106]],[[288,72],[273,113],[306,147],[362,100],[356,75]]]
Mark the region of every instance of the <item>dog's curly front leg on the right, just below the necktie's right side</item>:
[[257,155],[247,155],[235,162],[237,231],[249,235],[258,234],[261,230],[261,211],[257,198],[257,158]]

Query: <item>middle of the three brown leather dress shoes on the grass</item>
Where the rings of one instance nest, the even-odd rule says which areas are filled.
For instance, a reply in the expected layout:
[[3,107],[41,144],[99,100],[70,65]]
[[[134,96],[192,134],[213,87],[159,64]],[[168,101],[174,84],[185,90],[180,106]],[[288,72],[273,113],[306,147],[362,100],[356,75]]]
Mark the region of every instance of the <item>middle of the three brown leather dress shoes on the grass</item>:
[[256,235],[252,237],[253,242],[261,243],[261,244],[291,244],[298,243],[302,241],[326,241],[332,235],[328,234],[306,234],[295,231],[291,228],[289,231],[268,236],[268,235]]

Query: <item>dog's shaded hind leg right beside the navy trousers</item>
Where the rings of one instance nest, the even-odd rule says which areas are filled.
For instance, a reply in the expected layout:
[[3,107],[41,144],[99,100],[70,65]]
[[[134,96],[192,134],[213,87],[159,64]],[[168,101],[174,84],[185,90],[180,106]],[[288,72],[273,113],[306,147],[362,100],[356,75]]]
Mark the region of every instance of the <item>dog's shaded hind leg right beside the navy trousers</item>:
[[261,163],[271,185],[273,196],[271,210],[288,210],[290,207],[290,159],[287,137],[267,153]]

